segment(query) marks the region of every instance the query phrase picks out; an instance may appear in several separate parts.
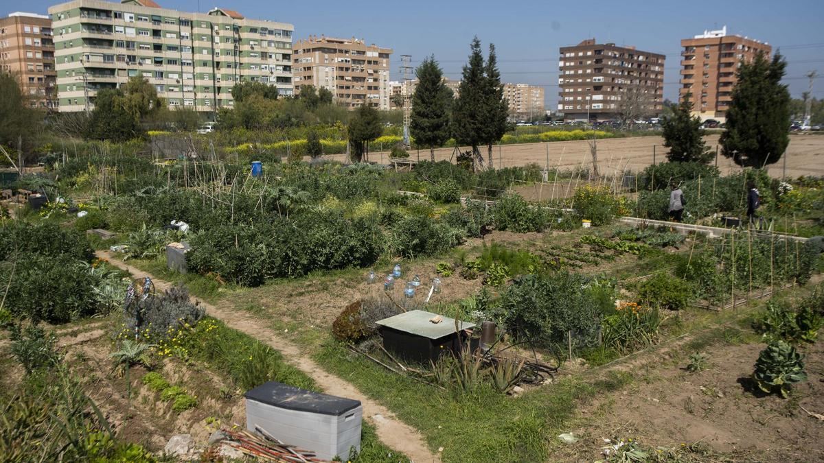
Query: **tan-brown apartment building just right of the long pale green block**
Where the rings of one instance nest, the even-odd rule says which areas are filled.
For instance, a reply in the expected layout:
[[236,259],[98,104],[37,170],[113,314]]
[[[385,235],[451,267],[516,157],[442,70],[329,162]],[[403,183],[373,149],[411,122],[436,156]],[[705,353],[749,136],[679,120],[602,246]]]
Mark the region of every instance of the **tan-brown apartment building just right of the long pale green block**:
[[363,40],[310,36],[294,45],[295,92],[312,85],[325,87],[349,109],[370,105],[389,110],[389,59],[392,49]]

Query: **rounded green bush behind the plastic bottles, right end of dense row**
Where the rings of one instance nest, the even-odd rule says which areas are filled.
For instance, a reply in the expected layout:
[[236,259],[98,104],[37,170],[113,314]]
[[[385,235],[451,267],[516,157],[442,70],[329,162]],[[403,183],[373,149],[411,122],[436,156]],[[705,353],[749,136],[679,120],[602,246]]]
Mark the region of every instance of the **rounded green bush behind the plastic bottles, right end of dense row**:
[[463,233],[423,215],[402,218],[391,229],[392,255],[414,258],[437,255],[461,244]]

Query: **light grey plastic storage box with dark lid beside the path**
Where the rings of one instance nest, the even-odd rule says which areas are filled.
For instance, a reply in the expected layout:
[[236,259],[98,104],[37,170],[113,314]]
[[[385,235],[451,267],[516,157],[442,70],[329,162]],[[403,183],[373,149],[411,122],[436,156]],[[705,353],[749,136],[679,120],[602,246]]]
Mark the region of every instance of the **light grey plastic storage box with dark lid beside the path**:
[[349,457],[349,449],[360,451],[360,400],[306,391],[275,381],[246,392],[246,428],[266,433],[305,450],[318,458]]

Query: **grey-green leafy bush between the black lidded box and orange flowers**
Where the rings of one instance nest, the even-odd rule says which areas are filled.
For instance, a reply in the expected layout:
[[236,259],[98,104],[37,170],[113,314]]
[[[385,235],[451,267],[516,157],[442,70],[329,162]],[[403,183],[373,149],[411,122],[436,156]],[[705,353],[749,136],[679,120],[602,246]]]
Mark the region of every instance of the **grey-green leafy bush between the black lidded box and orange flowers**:
[[601,311],[583,275],[558,272],[516,278],[501,295],[499,318],[509,333],[536,347],[559,348],[597,341]]

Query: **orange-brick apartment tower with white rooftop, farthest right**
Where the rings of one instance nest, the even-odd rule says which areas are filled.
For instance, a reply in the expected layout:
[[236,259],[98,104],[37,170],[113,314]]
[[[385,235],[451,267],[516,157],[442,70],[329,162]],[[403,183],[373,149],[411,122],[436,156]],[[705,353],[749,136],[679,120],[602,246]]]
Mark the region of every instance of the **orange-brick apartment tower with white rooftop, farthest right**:
[[727,35],[727,26],[681,40],[681,47],[680,99],[689,94],[693,115],[719,122],[727,119],[738,66],[750,62],[759,51],[767,55],[772,51],[770,44]]

